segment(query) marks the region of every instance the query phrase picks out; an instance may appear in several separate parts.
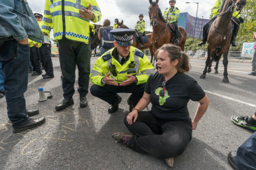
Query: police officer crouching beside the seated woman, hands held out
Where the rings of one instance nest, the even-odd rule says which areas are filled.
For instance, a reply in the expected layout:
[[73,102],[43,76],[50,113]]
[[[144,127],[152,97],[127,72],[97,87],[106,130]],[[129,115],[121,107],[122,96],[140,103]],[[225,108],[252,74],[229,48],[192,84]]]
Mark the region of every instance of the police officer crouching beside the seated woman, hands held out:
[[113,29],[110,33],[115,39],[115,48],[96,60],[90,74],[91,94],[111,104],[108,113],[113,113],[122,100],[117,93],[132,93],[127,101],[131,112],[143,96],[154,68],[144,53],[131,46],[133,29]]

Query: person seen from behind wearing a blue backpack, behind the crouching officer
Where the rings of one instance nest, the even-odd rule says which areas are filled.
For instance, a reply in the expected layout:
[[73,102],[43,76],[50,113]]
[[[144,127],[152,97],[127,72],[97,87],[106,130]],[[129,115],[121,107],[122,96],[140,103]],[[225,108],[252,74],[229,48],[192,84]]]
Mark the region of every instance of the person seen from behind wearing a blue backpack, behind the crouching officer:
[[109,49],[114,48],[114,37],[110,34],[113,28],[110,27],[110,20],[104,20],[102,27],[98,32],[98,39],[100,40],[100,55],[103,55]]

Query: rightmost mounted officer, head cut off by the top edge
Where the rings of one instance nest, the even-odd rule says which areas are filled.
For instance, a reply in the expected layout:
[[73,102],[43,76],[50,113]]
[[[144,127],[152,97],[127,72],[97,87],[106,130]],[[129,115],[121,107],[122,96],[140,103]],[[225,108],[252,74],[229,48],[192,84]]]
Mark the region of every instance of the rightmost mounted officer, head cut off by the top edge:
[[[197,44],[198,46],[202,46],[206,43],[207,41],[207,37],[208,37],[208,29],[209,27],[211,26],[211,23],[213,23],[213,21],[218,17],[219,15],[219,9],[221,8],[221,5],[223,4],[223,0],[217,0],[215,2],[215,4],[213,5],[213,7],[211,8],[211,14],[213,15],[213,17],[211,18],[210,21],[208,21],[205,25],[204,25],[204,28],[203,28],[203,38],[202,38],[202,41]],[[236,21],[236,23],[234,23],[234,31],[233,31],[233,34],[232,34],[232,38],[231,38],[231,45],[233,47],[236,47],[237,44],[236,44],[236,36],[237,36],[237,33],[238,33],[238,30],[239,30],[239,26],[241,23],[243,23],[243,18],[241,17],[241,15],[239,14],[238,11],[236,11],[236,9],[234,9],[234,12],[233,12],[233,16],[232,18]]]

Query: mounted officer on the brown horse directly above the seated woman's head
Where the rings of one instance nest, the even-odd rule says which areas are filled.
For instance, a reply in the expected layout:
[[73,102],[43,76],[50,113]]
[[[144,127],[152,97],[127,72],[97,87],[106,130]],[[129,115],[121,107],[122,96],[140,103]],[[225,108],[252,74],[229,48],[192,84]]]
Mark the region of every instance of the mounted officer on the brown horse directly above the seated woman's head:
[[176,4],[176,0],[169,0],[170,7],[166,8],[164,13],[163,13],[163,18],[165,19],[166,22],[169,22],[169,24],[173,24],[175,27],[175,41],[174,44],[179,44],[180,43],[180,38],[179,38],[179,30],[178,30],[178,18],[180,16],[180,10],[178,7],[174,7]]

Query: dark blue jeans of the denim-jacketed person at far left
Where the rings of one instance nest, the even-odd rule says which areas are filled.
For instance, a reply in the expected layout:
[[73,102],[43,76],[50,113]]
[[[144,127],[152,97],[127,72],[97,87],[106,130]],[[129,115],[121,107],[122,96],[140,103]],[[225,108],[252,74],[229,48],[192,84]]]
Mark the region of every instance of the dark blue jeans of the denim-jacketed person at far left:
[[28,88],[29,46],[16,40],[6,41],[0,48],[0,62],[5,75],[4,92],[7,113],[13,128],[28,121],[24,93]]

